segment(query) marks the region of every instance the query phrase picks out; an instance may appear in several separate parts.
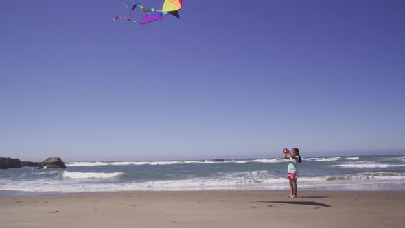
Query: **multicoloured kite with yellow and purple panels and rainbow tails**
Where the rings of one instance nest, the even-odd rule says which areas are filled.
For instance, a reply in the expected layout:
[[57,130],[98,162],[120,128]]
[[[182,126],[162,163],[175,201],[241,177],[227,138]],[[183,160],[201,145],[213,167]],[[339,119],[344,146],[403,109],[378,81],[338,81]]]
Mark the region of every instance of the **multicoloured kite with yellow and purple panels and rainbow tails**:
[[176,16],[177,18],[180,18],[180,15],[178,14],[178,10],[182,8],[182,0],[165,0],[163,3],[162,10],[155,10],[154,8],[149,8],[148,10],[145,10],[143,5],[141,4],[135,4],[130,8],[130,6],[126,3],[125,4],[126,8],[130,10],[130,14],[132,11],[134,11],[136,8],[139,8],[143,11],[145,16],[143,16],[143,19],[141,21],[137,20],[132,20],[129,19],[126,16],[114,16],[113,21],[117,19],[124,19],[126,21],[132,21],[134,23],[139,23],[141,25],[144,25],[146,23],[150,23],[152,21],[157,21],[159,19],[163,19],[163,17],[167,16],[168,14],[171,14],[173,16]]

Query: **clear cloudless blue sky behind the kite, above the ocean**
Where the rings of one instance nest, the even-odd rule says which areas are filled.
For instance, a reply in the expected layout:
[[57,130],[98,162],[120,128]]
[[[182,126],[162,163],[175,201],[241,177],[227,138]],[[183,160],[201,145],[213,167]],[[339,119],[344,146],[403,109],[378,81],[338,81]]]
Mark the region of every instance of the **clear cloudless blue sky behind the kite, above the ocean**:
[[0,157],[405,151],[405,1],[184,0],[147,25],[112,21],[121,0],[0,6]]

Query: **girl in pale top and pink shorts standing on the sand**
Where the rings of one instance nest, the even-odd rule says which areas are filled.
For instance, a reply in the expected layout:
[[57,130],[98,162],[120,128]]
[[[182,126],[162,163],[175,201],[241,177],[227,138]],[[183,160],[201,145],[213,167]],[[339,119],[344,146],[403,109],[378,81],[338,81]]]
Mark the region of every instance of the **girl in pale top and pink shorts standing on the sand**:
[[[287,155],[290,155],[288,157]],[[287,170],[287,179],[290,181],[290,190],[291,194],[287,197],[297,198],[297,176],[298,176],[298,169],[297,169],[297,161],[301,163],[301,156],[299,156],[299,149],[292,148],[287,150],[287,153],[284,154],[284,158],[288,159],[288,170]]]

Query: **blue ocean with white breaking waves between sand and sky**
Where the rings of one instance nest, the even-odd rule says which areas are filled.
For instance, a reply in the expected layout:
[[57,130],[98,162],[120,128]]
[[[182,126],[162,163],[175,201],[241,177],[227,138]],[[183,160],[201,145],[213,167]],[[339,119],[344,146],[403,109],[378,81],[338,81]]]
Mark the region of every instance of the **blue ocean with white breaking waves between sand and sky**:
[[[0,170],[0,196],[75,192],[289,190],[285,159],[66,162]],[[405,156],[303,157],[299,190],[405,190]]]

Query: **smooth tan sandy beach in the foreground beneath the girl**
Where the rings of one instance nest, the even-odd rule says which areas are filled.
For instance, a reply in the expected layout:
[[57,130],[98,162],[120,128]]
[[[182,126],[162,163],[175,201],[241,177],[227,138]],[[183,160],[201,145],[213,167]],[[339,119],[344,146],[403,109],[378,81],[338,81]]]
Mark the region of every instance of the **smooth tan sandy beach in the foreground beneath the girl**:
[[0,197],[0,227],[403,227],[405,192],[108,192]]

